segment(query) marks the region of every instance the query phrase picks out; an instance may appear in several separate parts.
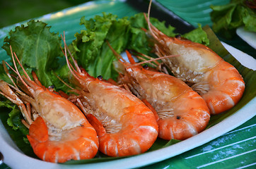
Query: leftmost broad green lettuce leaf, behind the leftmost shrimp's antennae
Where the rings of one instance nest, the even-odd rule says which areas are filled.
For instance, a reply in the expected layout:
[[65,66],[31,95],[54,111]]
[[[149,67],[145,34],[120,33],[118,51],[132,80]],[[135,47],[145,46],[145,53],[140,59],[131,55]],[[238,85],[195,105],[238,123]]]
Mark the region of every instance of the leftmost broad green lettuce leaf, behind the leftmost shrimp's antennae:
[[[52,85],[50,70],[59,66],[56,63],[57,57],[62,56],[61,39],[50,32],[46,23],[30,20],[27,26],[21,25],[15,31],[11,30],[4,43],[2,48],[11,56],[11,45],[29,75],[31,70],[35,70],[43,85]],[[22,72],[20,69],[20,73]]]

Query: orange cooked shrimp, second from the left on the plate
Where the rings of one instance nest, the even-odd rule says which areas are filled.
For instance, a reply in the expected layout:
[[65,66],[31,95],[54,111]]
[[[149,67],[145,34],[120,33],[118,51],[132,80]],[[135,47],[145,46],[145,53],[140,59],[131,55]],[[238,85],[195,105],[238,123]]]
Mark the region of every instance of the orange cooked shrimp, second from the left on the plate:
[[78,87],[79,96],[75,100],[97,131],[99,150],[107,156],[131,156],[147,151],[158,136],[152,111],[127,90],[105,82],[101,76],[88,75],[74,59],[76,69],[73,68],[66,45],[64,53]]

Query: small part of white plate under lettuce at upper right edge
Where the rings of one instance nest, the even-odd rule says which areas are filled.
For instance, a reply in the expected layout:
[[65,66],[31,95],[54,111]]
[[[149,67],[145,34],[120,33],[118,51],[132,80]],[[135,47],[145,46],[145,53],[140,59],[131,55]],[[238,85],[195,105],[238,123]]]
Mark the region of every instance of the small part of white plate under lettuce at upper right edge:
[[236,34],[250,46],[256,49],[256,32],[250,32],[245,30],[244,27],[238,27]]

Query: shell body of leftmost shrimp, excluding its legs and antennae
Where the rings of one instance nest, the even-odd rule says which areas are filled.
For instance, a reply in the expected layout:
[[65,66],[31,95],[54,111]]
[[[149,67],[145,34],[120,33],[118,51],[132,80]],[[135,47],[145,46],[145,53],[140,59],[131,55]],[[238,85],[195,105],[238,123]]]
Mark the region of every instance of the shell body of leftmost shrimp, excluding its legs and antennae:
[[37,94],[40,113],[27,136],[35,154],[54,163],[93,158],[98,152],[98,137],[83,113],[48,90],[37,90]]

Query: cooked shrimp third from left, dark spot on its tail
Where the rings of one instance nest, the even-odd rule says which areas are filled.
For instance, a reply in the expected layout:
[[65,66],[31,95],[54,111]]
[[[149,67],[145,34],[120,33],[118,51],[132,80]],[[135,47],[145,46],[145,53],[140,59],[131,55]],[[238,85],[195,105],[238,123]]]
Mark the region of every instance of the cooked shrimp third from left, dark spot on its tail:
[[129,52],[127,56],[130,63],[122,59],[124,74],[119,83],[127,84],[139,99],[146,100],[156,110],[158,137],[187,139],[204,130],[210,119],[209,108],[197,92],[176,77],[135,65]]

